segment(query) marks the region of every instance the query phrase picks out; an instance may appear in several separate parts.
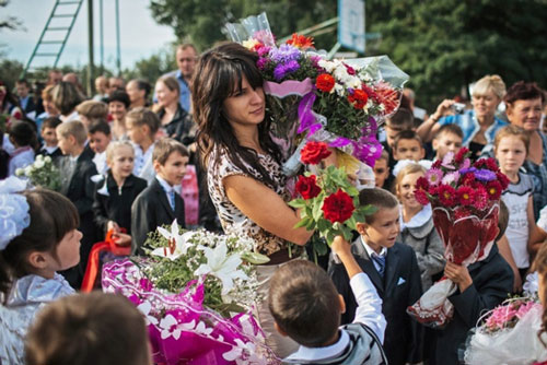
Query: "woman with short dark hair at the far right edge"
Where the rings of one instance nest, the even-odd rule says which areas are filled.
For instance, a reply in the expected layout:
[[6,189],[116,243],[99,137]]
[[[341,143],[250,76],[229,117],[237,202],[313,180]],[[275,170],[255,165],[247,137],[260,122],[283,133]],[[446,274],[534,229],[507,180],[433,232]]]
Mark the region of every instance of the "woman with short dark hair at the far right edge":
[[547,138],[539,130],[545,94],[536,83],[519,81],[509,87],[503,101],[509,121],[529,136],[529,152],[523,167],[534,180],[534,217],[537,219],[547,204]]

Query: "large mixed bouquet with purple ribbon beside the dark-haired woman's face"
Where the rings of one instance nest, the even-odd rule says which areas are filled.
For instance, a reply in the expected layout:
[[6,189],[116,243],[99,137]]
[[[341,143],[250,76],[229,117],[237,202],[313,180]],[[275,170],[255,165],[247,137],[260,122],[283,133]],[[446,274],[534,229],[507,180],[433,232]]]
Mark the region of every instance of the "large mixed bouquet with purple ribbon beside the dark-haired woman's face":
[[377,123],[397,109],[408,75],[386,56],[326,60],[313,39],[296,34],[277,47],[265,13],[226,27],[233,40],[258,55],[272,134],[291,156],[286,174],[300,170],[299,152],[307,141],[327,142],[351,156],[340,158],[351,174],[365,169],[360,164],[374,165],[382,153]]

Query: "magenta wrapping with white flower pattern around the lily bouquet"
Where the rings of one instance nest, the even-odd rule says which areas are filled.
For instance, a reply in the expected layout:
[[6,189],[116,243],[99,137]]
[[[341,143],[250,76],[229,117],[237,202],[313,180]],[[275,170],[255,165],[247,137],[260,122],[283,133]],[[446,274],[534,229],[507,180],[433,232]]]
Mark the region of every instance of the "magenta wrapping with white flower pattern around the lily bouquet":
[[105,266],[103,291],[126,296],[146,316],[155,364],[277,364],[251,314],[224,318],[203,306],[202,282],[166,293],[124,259]]

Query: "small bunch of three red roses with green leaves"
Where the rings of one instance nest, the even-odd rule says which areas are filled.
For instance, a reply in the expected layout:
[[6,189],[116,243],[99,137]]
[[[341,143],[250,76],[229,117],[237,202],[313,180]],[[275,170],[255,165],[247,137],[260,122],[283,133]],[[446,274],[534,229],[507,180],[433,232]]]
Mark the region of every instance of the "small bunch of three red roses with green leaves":
[[331,152],[324,142],[307,142],[302,149],[301,158],[306,165],[314,166],[316,174],[306,172],[299,176],[296,198],[289,202],[300,209],[301,221],[296,227],[317,229],[319,235],[331,243],[337,235],[351,240],[352,231],[365,215],[373,214],[372,205],[359,205],[359,190],[348,179],[344,168],[335,166],[318,167]]

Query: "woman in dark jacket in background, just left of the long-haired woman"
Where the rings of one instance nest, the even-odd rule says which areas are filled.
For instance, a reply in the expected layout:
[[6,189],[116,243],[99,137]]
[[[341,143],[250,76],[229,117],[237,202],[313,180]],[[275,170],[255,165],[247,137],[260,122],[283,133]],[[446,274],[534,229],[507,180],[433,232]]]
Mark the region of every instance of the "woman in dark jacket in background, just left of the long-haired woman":
[[182,107],[181,86],[175,78],[163,76],[155,83],[158,104],[155,113],[165,133],[189,146],[195,140],[191,116]]

